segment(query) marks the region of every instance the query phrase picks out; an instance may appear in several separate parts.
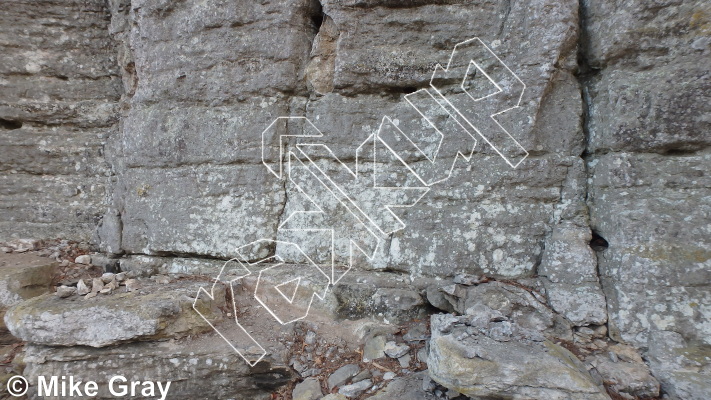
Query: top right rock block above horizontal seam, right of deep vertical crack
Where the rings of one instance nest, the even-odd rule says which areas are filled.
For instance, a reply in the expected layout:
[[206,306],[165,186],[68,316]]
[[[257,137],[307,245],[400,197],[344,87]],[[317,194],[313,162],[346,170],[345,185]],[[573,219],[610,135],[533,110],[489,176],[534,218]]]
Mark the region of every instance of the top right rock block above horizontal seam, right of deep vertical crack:
[[600,69],[590,85],[590,150],[664,153],[711,144],[709,105],[697,101],[711,89],[703,63],[708,4],[583,5],[587,62]]

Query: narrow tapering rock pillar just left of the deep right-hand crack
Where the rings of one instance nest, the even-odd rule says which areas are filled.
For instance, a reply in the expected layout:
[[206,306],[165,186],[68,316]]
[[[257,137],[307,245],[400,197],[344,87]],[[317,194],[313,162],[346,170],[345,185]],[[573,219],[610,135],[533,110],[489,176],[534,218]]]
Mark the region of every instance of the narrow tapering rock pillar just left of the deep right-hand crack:
[[[578,9],[579,10],[579,9]],[[579,11],[578,11],[579,12]],[[586,148],[585,108],[581,98],[581,67],[576,57],[581,44],[582,26],[576,20],[577,34],[562,51],[558,59],[560,69],[546,87],[541,108],[557,108],[566,112],[567,119],[575,118],[566,132],[575,132],[570,146],[561,155],[564,168],[557,205],[551,218],[552,228],[545,238],[544,252],[537,273],[546,288],[548,304],[574,326],[602,325],[608,320],[607,302],[600,285],[597,258],[590,248],[591,229],[589,209],[586,204],[588,173],[583,154]],[[568,106],[556,103],[566,96]],[[545,115],[542,116],[545,119]],[[554,121],[560,124],[563,121]]]

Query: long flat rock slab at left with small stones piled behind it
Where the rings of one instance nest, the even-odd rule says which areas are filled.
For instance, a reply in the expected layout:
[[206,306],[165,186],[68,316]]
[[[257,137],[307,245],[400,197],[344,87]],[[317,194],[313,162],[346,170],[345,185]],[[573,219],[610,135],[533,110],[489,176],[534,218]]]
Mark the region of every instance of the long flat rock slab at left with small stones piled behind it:
[[[166,339],[209,331],[210,325],[193,309],[200,282],[168,285],[142,281],[141,290],[98,295],[91,299],[60,299],[45,294],[7,311],[10,332],[30,343],[50,346],[104,347],[117,343]],[[219,320],[225,305],[224,287],[215,300],[201,297],[197,306]]]

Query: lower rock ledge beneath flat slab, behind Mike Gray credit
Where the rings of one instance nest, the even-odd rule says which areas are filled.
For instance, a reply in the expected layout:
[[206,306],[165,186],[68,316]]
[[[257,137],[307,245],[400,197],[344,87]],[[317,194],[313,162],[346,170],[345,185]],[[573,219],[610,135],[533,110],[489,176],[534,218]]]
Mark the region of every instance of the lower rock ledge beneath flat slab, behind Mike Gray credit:
[[[270,392],[292,379],[283,360],[268,358],[250,368],[217,335],[100,349],[29,345],[24,361],[24,376],[30,382],[37,382],[40,375],[93,380],[100,388],[98,399],[116,398],[108,392],[108,381],[117,375],[171,381],[168,398],[178,400],[268,400]],[[30,387],[30,398],[36,390],[36,385]]]

